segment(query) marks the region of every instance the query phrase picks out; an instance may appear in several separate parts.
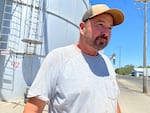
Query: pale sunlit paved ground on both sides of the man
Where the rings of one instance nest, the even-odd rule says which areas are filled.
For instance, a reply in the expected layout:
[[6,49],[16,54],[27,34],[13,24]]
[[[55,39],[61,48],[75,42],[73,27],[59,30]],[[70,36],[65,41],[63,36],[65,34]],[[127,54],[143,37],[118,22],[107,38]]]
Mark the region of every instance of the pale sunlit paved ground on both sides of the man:
[[[123,77],[118,77],[117,80],[121,90],[119,103],[122,113],[150,113],[150,96],[143,94],[136,84]],[[23,99],[11,102],[0,101],[0,113],[22,113],[23,107]],[[47,113],[47,107],[43,113]]]

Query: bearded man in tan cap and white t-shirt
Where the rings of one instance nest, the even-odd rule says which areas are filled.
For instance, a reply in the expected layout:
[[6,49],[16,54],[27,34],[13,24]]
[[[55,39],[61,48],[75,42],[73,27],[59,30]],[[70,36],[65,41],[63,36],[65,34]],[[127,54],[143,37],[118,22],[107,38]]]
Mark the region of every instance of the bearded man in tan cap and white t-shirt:
[[119,88],[108,57],[99,52],[124,15],[107,5],[92,6],[80,23],[76,44],[50,52],[29,92],[24,113],[120,113]]

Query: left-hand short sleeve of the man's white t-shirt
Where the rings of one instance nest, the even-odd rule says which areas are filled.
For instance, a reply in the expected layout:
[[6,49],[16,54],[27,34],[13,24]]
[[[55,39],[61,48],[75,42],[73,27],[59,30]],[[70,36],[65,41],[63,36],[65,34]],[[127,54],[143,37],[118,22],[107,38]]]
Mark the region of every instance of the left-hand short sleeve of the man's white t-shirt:
[[37,97],[47,103],[55,95],[57,77],[61,71],[61,57],[56,51],[50,52],[44,59],[33,81],[28,98]]

